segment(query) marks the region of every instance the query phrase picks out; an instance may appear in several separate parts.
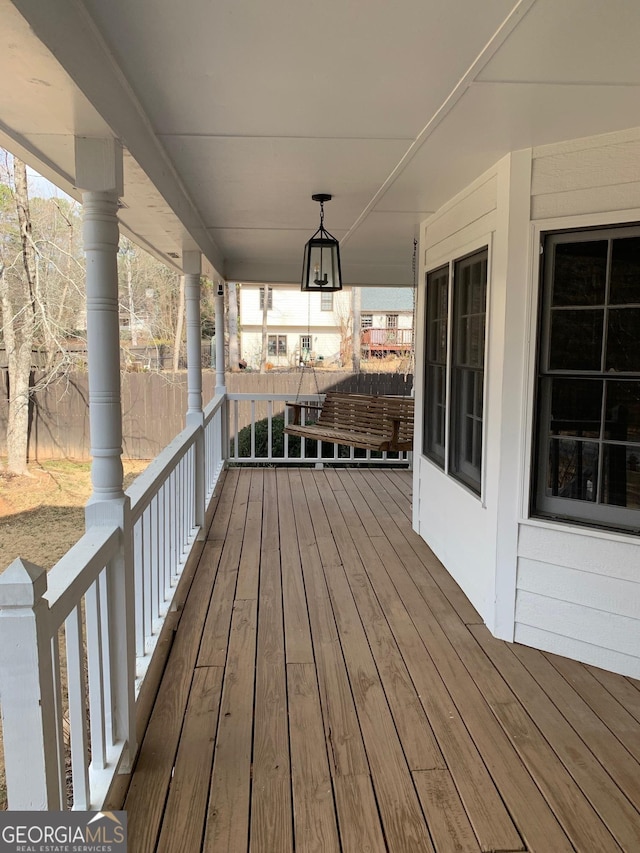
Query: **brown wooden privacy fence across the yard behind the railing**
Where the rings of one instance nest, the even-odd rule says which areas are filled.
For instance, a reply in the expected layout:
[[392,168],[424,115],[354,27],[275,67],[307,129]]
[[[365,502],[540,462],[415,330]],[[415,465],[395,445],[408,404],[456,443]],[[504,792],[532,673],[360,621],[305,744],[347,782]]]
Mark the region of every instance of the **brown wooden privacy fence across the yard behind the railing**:
[[[39,374],[34,374],[37,383]],[[205,403],[212,399],[215,373],[202,376]],[[331,389],[358,394],[408,396],[413,376],[399,373],[351,373],[305,369],[289,373],[229,373],[229,393],[287,395],[322,394]],[[0,453],[6,453],[7,377],[0,370]],[[284,405],[273,414],[281,414]],[[153,459],[184,427],[187,410],[185,373],[123,373],[122,417],[124,455],[130,459]],[[238,428],[267,416],[267,404],[249,402],[237,409]],[[30,415],[29,458],[88,459],[89,390],[86,373],[61,376],[35,392]]]

